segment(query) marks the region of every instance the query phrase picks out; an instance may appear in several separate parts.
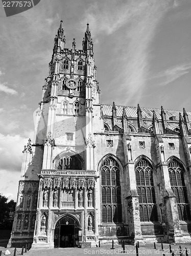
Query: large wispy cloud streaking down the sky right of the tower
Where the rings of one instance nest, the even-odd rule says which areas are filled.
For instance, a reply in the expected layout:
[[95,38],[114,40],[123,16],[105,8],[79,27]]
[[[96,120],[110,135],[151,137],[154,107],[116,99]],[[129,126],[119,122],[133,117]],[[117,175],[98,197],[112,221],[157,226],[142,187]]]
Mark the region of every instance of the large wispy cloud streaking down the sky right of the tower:
[[[150,68],[150,44],[155,36],[156,28],[163,15],[176,6],[175,1],[130,0],[118,5],[117,1],[104,1],[92,4],[87,10],[89,23],[96,31],[96,37],[105,33],[111,35],[121,29],[121,37],[115,37],[116,45],[113,52],[116,54],[114,61],[118,63],[115,69],[116,79],[113,79],[110,88],[115,88],[120,77],[120,95],[126,92],[121,100],[129,103],[136,95],[140,98],[146,86]],[[115,11],[113,11],[115,10]],[[85,19],[85,18],[84,18]],[[102,20],[100,23],[99,21]],[[84,24],[83,20],[83,24]],[[123,32],[122,32],[123,31]],[[120,49],[120,50],[119,50]]]

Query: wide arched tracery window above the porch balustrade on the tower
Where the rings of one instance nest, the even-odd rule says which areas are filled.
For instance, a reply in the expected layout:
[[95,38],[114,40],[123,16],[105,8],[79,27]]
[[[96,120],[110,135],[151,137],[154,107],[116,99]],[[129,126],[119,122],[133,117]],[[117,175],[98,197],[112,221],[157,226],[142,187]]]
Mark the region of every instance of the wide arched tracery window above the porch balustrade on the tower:
[[81,170],[82,164],[76,156],[64,155],[61,157],[56,165],[58,170]]

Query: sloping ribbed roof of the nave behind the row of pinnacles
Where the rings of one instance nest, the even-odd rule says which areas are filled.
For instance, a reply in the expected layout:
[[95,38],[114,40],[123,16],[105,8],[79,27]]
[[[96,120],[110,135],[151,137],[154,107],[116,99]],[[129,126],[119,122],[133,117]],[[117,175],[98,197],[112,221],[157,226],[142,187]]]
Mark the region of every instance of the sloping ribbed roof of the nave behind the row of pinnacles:
[[[112,116],[112,105],[105,105],[102,104],[103,106],[103,113],[105,116]],[[123,114],[123,108],[125,108],[125,111],[127,113],[128,117],[135,117],[137,118],[137,107],[136,106],[121,106],[121,105],[116,105],[116,115],[118,117],[122,117]],[[142,118],[153,118],[153,110],[155,110],[156,116],[158,119],[161,119],[161,109],[153,109],[153,108],[140,108],[142,111]],[[165,110],[164,112],[166,113],[166,120],[168,120],[171,116],[175,116],[176,120],[179,120],[179,113],[183,115],[183,110],[178,111],[178,110]],[[188,118],[191,121],[191,112],[187,112]]]

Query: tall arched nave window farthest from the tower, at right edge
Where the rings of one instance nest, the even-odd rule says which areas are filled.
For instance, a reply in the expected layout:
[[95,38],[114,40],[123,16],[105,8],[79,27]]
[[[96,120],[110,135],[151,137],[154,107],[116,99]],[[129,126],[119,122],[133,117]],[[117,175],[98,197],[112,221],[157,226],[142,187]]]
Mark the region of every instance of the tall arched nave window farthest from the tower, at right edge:
[[169,162],[168,167],[171,188],[176,196],[179,220],[191,220],[187,199],[187,191],[184,182],[184,168],[182,164],[174,158]]

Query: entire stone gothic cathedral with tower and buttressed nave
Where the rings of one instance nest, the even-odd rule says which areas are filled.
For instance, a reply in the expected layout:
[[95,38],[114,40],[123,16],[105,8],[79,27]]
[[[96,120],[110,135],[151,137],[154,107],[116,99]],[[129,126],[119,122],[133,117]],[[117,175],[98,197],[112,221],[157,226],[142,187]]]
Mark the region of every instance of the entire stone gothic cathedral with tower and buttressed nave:
[[62,26],[9,246],[191,242],[191,112],[101,104],[89,25],[82,50],[65,48]]

